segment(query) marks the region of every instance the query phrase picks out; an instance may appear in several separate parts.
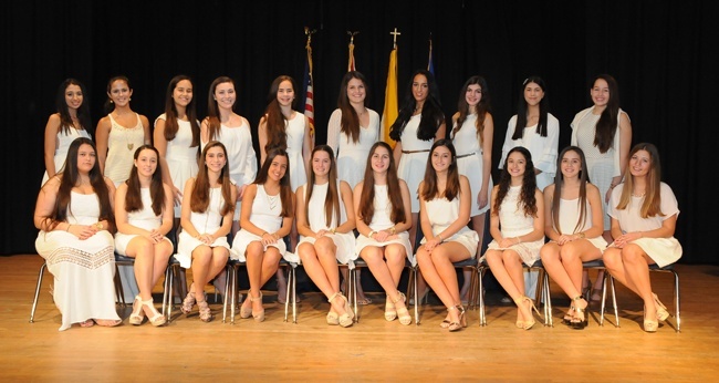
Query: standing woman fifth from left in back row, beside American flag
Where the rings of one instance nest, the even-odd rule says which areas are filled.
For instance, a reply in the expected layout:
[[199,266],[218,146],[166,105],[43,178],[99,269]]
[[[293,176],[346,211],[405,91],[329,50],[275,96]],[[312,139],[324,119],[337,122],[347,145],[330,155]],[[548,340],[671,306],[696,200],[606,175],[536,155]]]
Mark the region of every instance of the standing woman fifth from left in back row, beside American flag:
[[[268,106],[258,126],[260,164],[264,164],[270,149],[286,151],[290,158],[289,173],[292,192],[308,183],[310,152],[312,151],[310,120],[294,110],[295,90],[296,85],[292,77],[281,75],[274,79],[270,85]],[[298,228],[293,224],[290,230],[291,251],[295,251],[298,239]],[[281,271],[278,271],[277,280],[278,301],[284,303],[288,282]]]

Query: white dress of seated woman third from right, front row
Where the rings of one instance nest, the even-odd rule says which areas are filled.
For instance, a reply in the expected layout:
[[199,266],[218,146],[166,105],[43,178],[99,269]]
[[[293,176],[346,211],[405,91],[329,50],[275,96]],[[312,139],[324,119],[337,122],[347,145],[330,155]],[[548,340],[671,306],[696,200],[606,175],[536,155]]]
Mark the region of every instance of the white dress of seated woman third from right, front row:
[[[534,217],[524,215],[524,204],[518,205],[521,186],[510,186],[499,209],[499,226],[502,237],[514,238],[534,230]],[[492,201],[493,203],[493,201]],[[489,242],[490,250],[514,250],[522,262],[532,266],[540,258],[539,251],[544,246],[544,236],[532,242],[521,242],[508,248],[499,247],[497,240]]]

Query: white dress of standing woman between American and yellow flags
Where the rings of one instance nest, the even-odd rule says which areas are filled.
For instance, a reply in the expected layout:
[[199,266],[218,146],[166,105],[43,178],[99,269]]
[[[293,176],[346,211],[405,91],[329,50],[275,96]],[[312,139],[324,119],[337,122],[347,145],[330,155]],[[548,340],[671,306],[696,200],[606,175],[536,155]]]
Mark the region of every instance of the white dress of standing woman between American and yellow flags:
[[335,110],[327,124],[327,145],[337,157],[337,177],[354,189],[362,182],[367,165],[369,149],[379,139],[379,115],[367,108],[369,125],[359,126],[359,141],[342,133],[342,111]]

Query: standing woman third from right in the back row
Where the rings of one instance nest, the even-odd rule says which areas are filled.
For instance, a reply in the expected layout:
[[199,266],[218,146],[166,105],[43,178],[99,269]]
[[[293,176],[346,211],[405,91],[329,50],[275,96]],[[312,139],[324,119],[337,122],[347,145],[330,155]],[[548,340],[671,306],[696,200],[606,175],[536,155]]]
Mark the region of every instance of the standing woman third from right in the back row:
[[[459,92],[457,113],[452,116],[452,143],[457,149],[457,169],[469,179],[472,196],[472,229],[479,236],[477,252],[482,250],[486,213],[489,210],[489,190],[492,189],[492,141],[494,120],[490,111],[489,89],[484,77],[473,75]],[[467,301],[471,272],[465,270],[461,301]]]

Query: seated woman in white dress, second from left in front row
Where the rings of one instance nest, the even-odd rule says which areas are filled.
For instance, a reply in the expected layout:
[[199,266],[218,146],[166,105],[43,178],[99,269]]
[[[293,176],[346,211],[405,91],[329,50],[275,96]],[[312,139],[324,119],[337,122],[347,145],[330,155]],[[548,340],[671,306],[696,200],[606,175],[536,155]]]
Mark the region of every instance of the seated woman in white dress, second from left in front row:
[[173,228],[173,190],[163,183],[159,153],[150,145],[135,151],[129,178],[115,193],[115,251],[135,258],[135,297],[131,324],[142,324],[147,315],[153,325],[165,324],[165,315],[153,304],[153,288],[167,268],[173,242],[166,237]]

